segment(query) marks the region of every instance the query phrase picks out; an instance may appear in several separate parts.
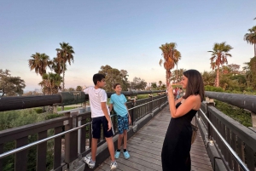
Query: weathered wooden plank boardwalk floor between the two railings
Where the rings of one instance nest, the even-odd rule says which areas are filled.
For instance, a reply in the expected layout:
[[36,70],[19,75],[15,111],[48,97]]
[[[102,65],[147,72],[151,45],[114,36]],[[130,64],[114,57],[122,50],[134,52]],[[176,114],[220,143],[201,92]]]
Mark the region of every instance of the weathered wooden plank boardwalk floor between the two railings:
[[[131,157],[126,160],[121,152],[118,162],[118,169],[123,171],[151,171],[162,170],[161,168],[161,149],[166,130],[169,125],[171,116],[169,106],[160,111],[149,123],[140,129],[135,135],[128,140],[127,150]],[[121,150],[122,151],[122,150]],[[207,151],[201,134],[198,131],[195,143],[192,145],[191,151],[191,169],[195,171],[211,171],[212,164],[207,155]],[[96,171],[109,171],[110,159],[103,162]]]

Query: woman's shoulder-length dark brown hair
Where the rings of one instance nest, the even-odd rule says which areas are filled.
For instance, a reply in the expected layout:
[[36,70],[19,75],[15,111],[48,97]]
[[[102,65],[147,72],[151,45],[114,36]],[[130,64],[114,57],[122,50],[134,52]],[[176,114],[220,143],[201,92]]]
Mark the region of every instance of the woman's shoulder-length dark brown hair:
[[183,95],[183,99],[187,99],[189,95],[200,95],[201,101],[205,97],[204,83],[201,77],[201,73],[196,70],[184,71],[183,75],[188,78],[188,84],[186,88],[186,94]]

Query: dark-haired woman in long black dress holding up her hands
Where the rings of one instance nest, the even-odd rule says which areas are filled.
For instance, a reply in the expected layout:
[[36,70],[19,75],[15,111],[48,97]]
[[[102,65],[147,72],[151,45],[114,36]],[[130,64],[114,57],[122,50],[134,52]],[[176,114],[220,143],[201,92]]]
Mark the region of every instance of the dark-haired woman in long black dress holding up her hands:
[[189,171],[191,169],[191,120],[201,107],[204,98],[204,85],[201,73],[196,70],[183,72],[181,81],[186,94],[174,99],[172,85],[168,89],[168,100],[171,111],[171,122],[166,132],[162,148],[163,171]]

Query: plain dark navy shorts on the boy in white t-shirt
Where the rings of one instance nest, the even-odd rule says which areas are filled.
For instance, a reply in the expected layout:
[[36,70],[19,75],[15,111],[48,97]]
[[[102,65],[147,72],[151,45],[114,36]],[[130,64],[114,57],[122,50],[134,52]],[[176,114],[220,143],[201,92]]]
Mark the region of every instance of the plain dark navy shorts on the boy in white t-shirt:
[[[102,127],[101,127],[102,125]],[[91,134],[92,138],[101,138],[101,129],[103,128],[103,134],[106,138],[113,137],[113,127],[108,131],[108,120],[105,116],[93,117],[91,122]]]

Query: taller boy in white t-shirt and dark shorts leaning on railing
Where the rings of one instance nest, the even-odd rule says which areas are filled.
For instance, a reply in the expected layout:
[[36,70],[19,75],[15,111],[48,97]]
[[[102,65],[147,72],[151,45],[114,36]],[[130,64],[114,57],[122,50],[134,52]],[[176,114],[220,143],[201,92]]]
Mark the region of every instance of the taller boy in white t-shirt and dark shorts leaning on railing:
[[104,89],[105,76],[102,74],[95,74],[93,76],[94,87],[84,89],[85,94],[89,94],[90,100],[90,111],[91,111],[91,129],[92,129],[92,140],[91,140],[91,157],[84,157],[89,168],[95,167],[96,162],[96,150],[97,141],[101,138],[101,124],[103,127],[103,134],[108,143],[108,151],[111,157],[110,169],[115,170],[117,168],[117,162],[114,159],[114,146],[113,146],[113,128],[112,122],[108,110],[107,100],[108,96]]

